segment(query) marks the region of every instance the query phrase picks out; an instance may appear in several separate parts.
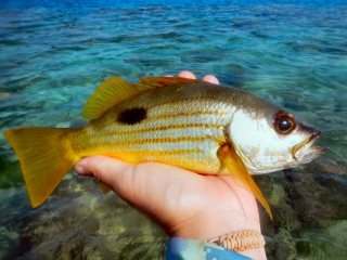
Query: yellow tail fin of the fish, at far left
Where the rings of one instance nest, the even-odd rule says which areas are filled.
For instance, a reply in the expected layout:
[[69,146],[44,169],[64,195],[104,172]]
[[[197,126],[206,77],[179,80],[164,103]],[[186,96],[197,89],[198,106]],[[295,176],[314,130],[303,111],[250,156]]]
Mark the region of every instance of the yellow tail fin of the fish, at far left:
[[18,128],[4,132],[17,154],[33,208],[40,206],[73,168],[69,129]]

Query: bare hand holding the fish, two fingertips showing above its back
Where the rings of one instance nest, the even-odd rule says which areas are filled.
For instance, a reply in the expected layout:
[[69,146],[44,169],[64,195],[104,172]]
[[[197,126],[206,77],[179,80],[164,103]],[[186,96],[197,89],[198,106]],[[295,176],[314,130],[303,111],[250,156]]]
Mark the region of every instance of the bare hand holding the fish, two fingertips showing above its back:
[[[190,72],[179,76],[195,78]],[[203,80],[219,83],[210,75]],[[256,199],[232,176],[202,176],[157,162],[130,165],[106,156],[83,158],[75,170],[110,186],[171,236],[205,240],[240,230],[260,232]],[[243,255],[266,259],[264,248]]]

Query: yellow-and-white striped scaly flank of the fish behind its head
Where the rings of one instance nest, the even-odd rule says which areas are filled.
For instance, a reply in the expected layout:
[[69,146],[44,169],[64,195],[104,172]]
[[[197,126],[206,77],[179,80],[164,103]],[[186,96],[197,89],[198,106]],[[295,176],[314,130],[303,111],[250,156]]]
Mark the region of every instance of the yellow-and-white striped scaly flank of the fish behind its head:
[[[76,152],[81,157],[95,154],[95,150],[99,150],[102,154],[120,157],[129,162],[176,161],[182,168],[216,173],[220,168],[217,150],[224,142],[222,129],[227,113],[210,109],[216,107],[214,104],[198,104],[201,102],[196,106],[190,106],[189,110],[182,109],[187,107],[182,102],[171,103],[169,106],[151,106],[147,117],[137,125],[113,122],[103,130],[98,130],[98,134],[89,129],[82,130],[87,136],[79,135],[77,142],[85,143],[86,146],[73,146],[80,147]],[[167,110],[176,113],[168,114]],[[117,118],[119,112],[115,109],[113,113],[112,117]],[[90,142],[87,144],[85,139]]]

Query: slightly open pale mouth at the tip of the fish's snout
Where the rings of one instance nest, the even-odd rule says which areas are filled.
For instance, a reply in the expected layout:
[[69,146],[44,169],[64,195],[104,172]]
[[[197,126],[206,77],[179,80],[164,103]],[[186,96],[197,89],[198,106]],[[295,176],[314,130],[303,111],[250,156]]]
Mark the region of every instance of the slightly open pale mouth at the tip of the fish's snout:
[[313,146],[313,143],[321,136],[320,131],[316,131],[311,136],[301,141],[292,148],[292,156],[295,160],[306,164],[324,154],[325,148]]

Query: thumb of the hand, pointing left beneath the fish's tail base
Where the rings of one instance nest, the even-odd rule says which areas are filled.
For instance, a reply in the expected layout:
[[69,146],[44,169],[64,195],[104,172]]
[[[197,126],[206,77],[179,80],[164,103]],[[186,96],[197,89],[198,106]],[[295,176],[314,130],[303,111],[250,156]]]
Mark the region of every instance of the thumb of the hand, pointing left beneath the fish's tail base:
[[80,176],[90,176],[106,184],[123,197],[130,196],[134,166],[106,156],[86,157],[77,162],[75,170]]

